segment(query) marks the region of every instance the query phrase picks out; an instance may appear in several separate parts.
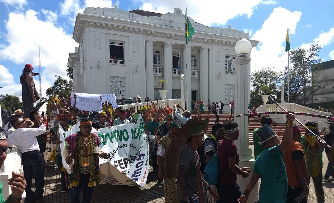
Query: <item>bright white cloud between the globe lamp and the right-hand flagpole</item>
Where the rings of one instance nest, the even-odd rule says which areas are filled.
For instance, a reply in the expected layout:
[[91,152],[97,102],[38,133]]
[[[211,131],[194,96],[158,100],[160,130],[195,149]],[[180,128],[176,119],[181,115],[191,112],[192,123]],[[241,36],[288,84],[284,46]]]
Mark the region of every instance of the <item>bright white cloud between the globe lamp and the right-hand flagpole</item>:
[[[282,70],[287,65],[287,53],[285,52],[286,30],[289,27],[289,36],[296,31],[296,25],[302,13],[291,12],[285,8],[274,8],[269,18],[264,21],[260,30],[257,30],[252,39],[260,43],[252,49],[251,71],[261,68],[273,68],[276,71]],[[290,40],[291,44],[291,40]],[[291,45],[291,48],[294,46]]]

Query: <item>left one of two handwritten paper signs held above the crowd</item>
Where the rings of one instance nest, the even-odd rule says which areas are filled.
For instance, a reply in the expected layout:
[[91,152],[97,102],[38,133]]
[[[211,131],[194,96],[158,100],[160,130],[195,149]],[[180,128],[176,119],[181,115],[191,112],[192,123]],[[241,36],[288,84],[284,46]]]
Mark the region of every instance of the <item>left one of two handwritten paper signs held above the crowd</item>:
[[75,106],[79,110],[100,112],[101,95],[71,92],[71,105],[74,106],[74,94],[76,95]]

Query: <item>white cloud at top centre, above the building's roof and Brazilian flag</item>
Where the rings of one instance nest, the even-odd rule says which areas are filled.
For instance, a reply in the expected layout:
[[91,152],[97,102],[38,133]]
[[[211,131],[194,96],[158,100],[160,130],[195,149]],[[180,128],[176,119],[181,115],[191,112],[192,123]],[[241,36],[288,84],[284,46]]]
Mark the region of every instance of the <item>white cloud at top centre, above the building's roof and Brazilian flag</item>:
[[[273,0],[240,0],[236,4],[234,1],[222,0],[134,0],[139,1],[143,5],[139,8],[146,11],[167,13],[173,12],[175,7],[181,8],[182,13],[185,14],[185,7],[187,7],[187,14],[194,21],[210,26],[210,25],[224,25],[227,20],[240,15],[247,15],[251,18],[254,10],[259,4],[274,4]],[[177,5],[177,6],[175,6]],[[223,9],[223,10],[222,10]]]

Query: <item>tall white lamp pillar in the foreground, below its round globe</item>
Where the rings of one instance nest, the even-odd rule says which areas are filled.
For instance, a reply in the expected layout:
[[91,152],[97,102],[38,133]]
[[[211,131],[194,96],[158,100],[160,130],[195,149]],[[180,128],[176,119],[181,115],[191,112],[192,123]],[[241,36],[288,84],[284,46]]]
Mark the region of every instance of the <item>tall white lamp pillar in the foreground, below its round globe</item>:
[[[235,140],[237,150],[239,153],[240,167],[249,167],[254,169],[255,160],[252,155],[252,149],[249,147],[249,135],[248,135],[248,117],[241,116],[235,117],[238,114],[244,114],[248,112],[248,83],[251,73],[248,69],[248,63],[251,61],[247,57],[238,57],[232,62],[235,64],[235,77],[236,77],[236,90],[235,90],[235,109],[234,109],[234,121],[238,123],[240,134],[239,138]],[[238,178],[237,183],[240,186],[241,191],[244,191],[252,174],[249,174],[248,178]],[[248,197],[248,202],[256,202],[258,200],[258,184],[255,184],[251,194]]]

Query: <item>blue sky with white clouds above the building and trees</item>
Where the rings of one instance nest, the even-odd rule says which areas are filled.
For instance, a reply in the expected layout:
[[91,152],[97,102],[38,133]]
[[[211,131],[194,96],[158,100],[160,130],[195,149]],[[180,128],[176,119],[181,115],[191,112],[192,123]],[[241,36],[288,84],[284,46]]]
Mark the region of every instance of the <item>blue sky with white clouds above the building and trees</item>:
[[[20,96],[19,76],[26,63],[38,72],[41,50],[42,96],[55,75],[66,77],[68,54],[78,46],[72,39],[77,13],[86,7],[142,9],[159,13],[181,8],[198,23],[248,32],[260,41],[252,49],[251,69],[281,70],[287,64],[286,29],[291,48],[319,43],[323,61],[334,60],[334,1],[332,0],[0,0],[0,94]],[[196,33],[195,33],[196,35]],[[194,36],[195,36],[194,35]],[[35,77],[38,84],[38,78]],[[44,94],[44,95],[43,95]]]

